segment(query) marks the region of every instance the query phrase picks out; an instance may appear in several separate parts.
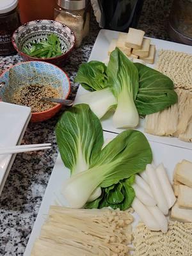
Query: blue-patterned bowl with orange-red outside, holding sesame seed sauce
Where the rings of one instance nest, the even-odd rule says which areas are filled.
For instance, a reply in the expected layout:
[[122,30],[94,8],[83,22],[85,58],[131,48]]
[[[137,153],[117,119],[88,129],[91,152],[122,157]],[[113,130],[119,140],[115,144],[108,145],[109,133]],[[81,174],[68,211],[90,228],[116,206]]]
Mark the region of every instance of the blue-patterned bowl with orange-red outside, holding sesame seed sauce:
[[[12,103],[12,95],[25,84],[51,84],[60,92],[61,99],[67,99],[70,93],[70,81],[61,68],[44,61],[26,61],[5,70],[0,76],[0,99]],[[54,116],[61,104],[39,113],[32,113],[32,122],[42,122]]]

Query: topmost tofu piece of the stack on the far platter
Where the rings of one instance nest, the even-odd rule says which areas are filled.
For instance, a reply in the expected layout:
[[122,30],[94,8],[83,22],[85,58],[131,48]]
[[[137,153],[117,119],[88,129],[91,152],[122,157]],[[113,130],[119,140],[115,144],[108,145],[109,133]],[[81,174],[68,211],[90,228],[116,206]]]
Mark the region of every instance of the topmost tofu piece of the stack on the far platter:
[[133,49],[141,49],[144,35],[145,32],[143,30],[129,28],[129,33],[127,34],[125,46]]

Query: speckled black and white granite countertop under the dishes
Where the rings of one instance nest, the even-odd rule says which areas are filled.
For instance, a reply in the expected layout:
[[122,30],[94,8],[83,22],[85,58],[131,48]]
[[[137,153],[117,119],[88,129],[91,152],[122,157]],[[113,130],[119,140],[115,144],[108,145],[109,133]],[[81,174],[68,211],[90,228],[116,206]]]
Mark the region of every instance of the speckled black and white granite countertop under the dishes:
[[[169,40],[166,24],[171,4],[172,1],[168,0],[145,0],[138,28],[146,31],[147,36]],[[88,60],[99,29],[93,17],[90,35],[79,49],[72,52],[64,67],[72,83],[71,98],[77,90],[73,83],[77,68]],[[18,55],[0,57],[0,71],[19,61]],[[0,198],[0,255],[24,253],[58,155],[54,127],[61,112],[46,122],[29,123],[24,134],[22,143],[51,142],[52,148],[49,151],[17,154],[15,158]]]

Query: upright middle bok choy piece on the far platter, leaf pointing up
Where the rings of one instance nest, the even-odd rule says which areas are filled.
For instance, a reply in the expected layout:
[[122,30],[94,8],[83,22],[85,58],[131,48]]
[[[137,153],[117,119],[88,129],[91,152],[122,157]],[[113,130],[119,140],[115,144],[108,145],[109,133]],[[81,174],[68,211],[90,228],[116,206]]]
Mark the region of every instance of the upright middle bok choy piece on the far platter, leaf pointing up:
[[139,75],[135,65],[118,48],[111,52],[108,68],[108,86],[117,100],[113,116],[115,128],[133,128],[139,123],[134,100],[139,90]]

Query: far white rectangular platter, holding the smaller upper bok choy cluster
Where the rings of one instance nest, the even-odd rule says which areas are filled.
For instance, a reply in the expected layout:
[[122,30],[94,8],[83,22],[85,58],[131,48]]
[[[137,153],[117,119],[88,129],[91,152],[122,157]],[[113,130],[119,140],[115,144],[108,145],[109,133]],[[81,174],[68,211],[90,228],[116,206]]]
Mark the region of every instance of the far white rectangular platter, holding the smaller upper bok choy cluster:
[[[92,54],[90,55],[89,61],[92,60],[98,60],[98,61],[104,61],[106,58],[108,58],[108,48],[111,40],[113,38],[118,38],[118,32],[117,31],[111,31],[107,29],[102,29],[99,32],[99,35],[97,36],[97,39],[95,41],[95,44],[93,46]],[[187,52],[189,54],[192,54],[192,47],[189,45],[183,45],[183,44],[177,44],[173,42],[168,42],[164,40],[159,40],[156,38],[150,38],[151,44],[156,45],[156,57],[153,65],[148,64],[148,67],[155,68],[156,63],[157,63],[157,55],[158,55],[158,50],[160,49],[167,49],[167,50],[174,50],[174,51],[182,51],[182,52]],[[79,86],[79,90],[76,95],[79,97],[79,95],[86,93],[87,91],[82,87]],[[113,127],[112,124],[112,115],[113,113],[107,113],[103,118],[102,118],[102,128],[104,131],[110,131],[110,132],[116,132],[120,133],[124,131],[123,129],[116,129]],[[140,125],[136,128],[137,130],[143,132],[144,129],[144,120],[140,119]],[[144,133],[144,132],[143,132]],[[181,141],[177,138],[170,138],[170,137],[165,137],[165,136],[154,136],[151,134],[145,133],[145,136],[149,140],[152,141],[158,141],[161,143],[165,143],[168,145],[174,145],[177,147],[183,147],[183,148],[189,148],[192,149],[192,143],[188,143],[185,141]]]

